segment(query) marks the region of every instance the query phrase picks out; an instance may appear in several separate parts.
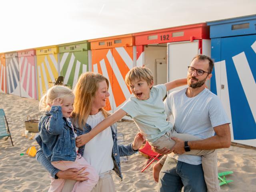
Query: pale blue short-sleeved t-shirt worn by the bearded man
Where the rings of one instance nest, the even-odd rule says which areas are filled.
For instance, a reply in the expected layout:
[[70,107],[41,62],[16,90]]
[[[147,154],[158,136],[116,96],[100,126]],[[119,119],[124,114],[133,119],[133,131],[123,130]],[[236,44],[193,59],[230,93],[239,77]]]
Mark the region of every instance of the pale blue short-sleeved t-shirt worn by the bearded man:
[[[230,123],[219,98],[204,89],[195,97],[186,96],[186,89],[174,91],[164,101],[167,116],[173,115],[174,128],[202,139],[214,136],[213,128]],[[201,164],[201,156],[169,154],[176,160],[189,164]]]

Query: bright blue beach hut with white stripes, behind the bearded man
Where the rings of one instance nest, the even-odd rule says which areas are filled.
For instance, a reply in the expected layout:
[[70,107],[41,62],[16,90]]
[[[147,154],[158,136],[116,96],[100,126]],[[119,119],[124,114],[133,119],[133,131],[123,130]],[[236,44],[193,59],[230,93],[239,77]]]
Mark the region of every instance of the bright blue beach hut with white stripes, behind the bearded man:
[[207,22],[215,60],[211,90],[232,120],[232,142],[256,147],[256,15]]

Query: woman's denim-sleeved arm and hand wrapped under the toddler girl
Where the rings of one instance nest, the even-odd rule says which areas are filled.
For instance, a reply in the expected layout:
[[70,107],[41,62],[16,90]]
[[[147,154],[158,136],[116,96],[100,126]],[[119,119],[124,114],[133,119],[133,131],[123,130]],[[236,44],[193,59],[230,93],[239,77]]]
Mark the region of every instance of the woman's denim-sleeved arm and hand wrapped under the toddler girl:
[[53,178],[71,179],[76,181],[88,180],[86,175],[88,175],[89,173],[85,172],[82,174],[82,172],[86,168],[82,168],[80,170],[76,168],[70,168],[70,169],[67,169],[66,171],[61,171],[55,168],[54,166],[52,166],[51,162],[44,155],[42,148],[40,148],[36,152],[36,160],[51,174]]

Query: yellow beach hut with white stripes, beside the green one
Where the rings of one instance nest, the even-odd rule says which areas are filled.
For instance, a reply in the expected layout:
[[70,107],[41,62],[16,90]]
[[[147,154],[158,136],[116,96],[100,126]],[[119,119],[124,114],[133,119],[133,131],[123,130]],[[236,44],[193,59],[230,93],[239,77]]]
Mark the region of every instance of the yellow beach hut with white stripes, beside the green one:
[[58,78],[58,47],[47,46],[36,48],[38,99]]

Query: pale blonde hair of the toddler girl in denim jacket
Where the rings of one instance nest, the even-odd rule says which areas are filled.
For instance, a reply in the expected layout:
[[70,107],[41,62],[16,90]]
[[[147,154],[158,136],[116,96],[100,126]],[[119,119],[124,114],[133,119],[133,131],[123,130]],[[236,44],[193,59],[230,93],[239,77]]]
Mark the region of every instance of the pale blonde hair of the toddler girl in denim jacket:
[[52,101],[56,98],[64,98],[65,96],[74,96],[73,91],[65,86],[56,85],[48,89],[46,94],[42,96],[39,102],[39,110],[50,111],[51,107],[48,104],[52,104]]

